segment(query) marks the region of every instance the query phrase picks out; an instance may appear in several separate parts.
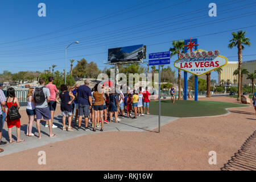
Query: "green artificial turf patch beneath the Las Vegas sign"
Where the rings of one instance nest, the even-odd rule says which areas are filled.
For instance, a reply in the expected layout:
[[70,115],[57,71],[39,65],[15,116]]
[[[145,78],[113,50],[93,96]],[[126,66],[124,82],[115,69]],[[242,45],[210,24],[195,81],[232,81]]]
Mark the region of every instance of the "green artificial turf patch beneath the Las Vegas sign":
[[[161,115],[171,117],[202,117],[209,115],[226,114],[226,108],[246,107],[246,105],[216,101],[184,101],[176,100],[172,104],[170,100],[161,101]],[[158,101],[150,102],[150,114],[158,115]]]

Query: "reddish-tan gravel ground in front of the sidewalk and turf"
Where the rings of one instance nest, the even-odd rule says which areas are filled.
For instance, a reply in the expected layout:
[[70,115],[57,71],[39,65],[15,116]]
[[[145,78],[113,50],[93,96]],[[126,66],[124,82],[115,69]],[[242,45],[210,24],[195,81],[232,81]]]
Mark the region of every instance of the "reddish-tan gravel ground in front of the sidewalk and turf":
[[[236,98],[199,100],[236,102]],[[253,107],[220,117],[181,118],[154,132],[109,132],[47,144],[0,158],[0,170],[220,170],[256,129]],[[4,147],[3,147],[4,148]],[[46,165],[38,152],[46,152]],[[217,152],[210,165],[209,151]]]

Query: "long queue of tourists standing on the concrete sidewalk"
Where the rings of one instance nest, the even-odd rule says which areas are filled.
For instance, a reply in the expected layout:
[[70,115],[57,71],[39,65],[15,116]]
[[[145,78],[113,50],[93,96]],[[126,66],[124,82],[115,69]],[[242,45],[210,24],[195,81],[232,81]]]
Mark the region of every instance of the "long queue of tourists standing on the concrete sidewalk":
[[[34,121],[36,121],[36,129],[38,130],[37,137],[42,137],[40,131],[42,118],[46,120],[45,127],[49,128],[49,137],[57,137],[52,130],[57,127],[53,124],[57,104],[60,104],[63,116],[62,130],[66,131],[74,131],[72,122],[75,124],[75,128],[80,131],[83,117],[85,131],[96,131],[96,127],[101,127],[100,131],[103,131],[104,123],[108,124],[112,121],[118,123],[121,121],[120,118],[137,119],[138,116],[150,114],[150,92],[147,88],[130,89],[127,93],[123,93],[119,85],[110,90],[109,88],[106,89],[104,85],[96,84],[94,88],[90,89],[89,81],[85,80],[84,85],[61,85],[60,90],[58,90],[53,84],[53,77],[48,78],[46,86],[44,86],[46,82],[43,78],[39,79],[39,84],[36,88],[28,89],[27,93],[27,137],[35,137],[35,134],[32,133]],[[9,143],[14,142],[12,138],[14,126],[16,127],[16,142],[24,142],[24,139],[20,138],[20,105],[18,98],[15,97],[14,88],[7,89],[6,96],[0,88],[0,103],[0,144],[7,143],[1,140],[5,122],[7,122],[8,127]],[[66,125],[67,121],[68,124]],[[0,148],[0,152],[3,152],[2,148]]]

